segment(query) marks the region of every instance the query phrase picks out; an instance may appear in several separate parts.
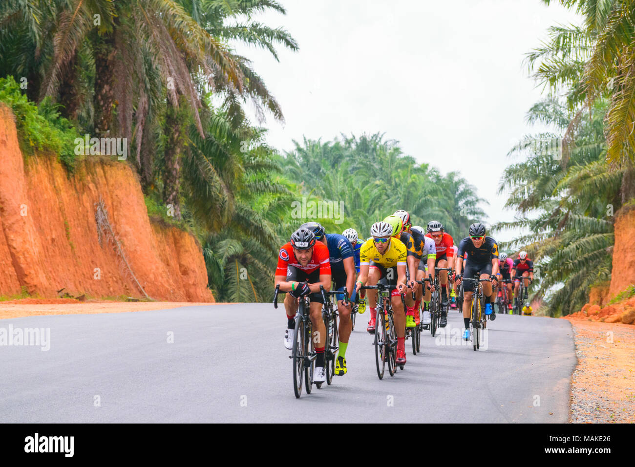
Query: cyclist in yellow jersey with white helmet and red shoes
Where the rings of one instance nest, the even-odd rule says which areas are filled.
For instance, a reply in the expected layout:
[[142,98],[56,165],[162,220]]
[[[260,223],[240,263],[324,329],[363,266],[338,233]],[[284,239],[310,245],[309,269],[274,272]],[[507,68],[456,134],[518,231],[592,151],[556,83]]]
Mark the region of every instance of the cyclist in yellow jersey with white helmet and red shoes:
[[[406,245],[393,238],[396,235],[393,227],[387,222],[375,222],[370,227],[372,238],[366,240],[359,251],[359,278],[356,290],[362,285],[377,285],[386,279],[388,285],[395,287],[391,294],[392,311],[397,333],[397,364],[406,363],[406,313],[399,294],[406,290]],[[396,274],[395,274],[396,269]],[[375,314],[377,291],[368,293],[370,305],[370,321],[368,332],[375,332]]]

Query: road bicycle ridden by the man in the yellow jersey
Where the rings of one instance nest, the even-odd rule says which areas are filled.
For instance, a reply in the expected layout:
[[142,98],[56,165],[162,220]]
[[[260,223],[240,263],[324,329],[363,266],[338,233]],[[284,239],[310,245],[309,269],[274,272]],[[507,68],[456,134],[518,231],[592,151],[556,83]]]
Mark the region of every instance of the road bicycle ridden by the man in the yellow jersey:
[[[375,308],[375,365],[377,376],[384,378],[385,366],[388,364],[388,373],[394,376],[397,371],[397,332],[391,304],[391,291],[394,287],[382,283],[377,285],[363,285],[360,290],[377,290],[377,306]],[[401,302],[405,309],[404,294],[401,294]],[[399,365],[403,370],[403,365]]]

